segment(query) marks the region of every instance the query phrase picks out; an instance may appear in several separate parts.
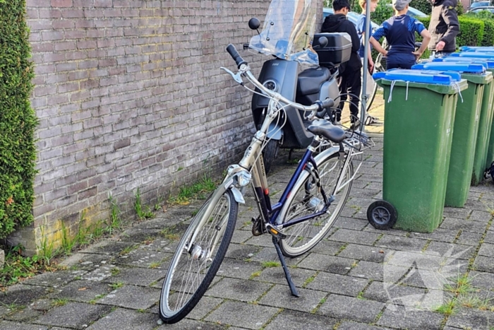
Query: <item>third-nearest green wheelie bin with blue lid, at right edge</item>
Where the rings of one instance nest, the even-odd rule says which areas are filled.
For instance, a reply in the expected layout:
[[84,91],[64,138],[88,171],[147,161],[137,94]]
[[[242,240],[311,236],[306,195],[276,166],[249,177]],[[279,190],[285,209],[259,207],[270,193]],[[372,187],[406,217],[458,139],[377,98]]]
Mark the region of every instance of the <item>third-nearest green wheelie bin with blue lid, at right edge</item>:
[[[482,60],[494,60],[494,52],[460,52],[450,55],[453,57],[469,58],[469,59],[482,59]],[[494,67],[488,66],[488,71],[494,74]],[[494,98],[494,83],[490,83],[490,89],[484,88],[484,95],[482,100],[481,114],[478,119],[478,134],[475,147],[474,156],[474,170],[471,175],[471,184],[476,186],[483,179],[483,173],[486,170],[488,160],[488,149],[490,148],[490,136],[493,126],[493,107]],[[492,157],[492,156],[491,156]]]

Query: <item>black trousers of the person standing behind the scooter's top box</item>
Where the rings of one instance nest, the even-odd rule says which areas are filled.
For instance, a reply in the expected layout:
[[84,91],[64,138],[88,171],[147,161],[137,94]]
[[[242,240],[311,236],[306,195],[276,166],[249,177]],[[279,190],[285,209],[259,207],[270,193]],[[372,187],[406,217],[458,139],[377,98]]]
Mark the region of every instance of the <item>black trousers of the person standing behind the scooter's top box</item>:
[[359,102],[360,93],[362,90],[362,71],[361,69],[354,71],[349,71],[348,69],[346,69],[340,75],[340,79],[339,94],[341,96],[339,98],[339,107],[335,112],[336,120],[337,122],[342,120],[342,110],[345,105],[345,101],[350,100],[350,120],[351,122],[355,122],[356,119],[359,119]]

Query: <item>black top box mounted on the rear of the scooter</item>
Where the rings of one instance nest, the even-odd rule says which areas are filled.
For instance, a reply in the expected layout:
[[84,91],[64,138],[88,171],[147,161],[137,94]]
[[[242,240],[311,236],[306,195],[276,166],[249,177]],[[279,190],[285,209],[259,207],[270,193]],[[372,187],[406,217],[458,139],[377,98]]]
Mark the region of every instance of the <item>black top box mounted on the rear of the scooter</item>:
[[[325,47],[320,47],[320,37],[326,37]],[[318,53],[320,66],[337,66],[350,59],[351,37],[348,33],[316,33],[313,49]]]

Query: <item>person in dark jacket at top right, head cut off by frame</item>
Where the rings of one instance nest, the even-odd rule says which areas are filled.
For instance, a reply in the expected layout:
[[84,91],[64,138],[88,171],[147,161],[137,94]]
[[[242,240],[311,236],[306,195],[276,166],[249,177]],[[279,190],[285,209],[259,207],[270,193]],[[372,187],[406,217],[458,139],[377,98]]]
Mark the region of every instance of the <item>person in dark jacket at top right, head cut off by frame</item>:
[[436,50],[438,54],[449,55],[456,52],[454,38],[459,33],[459,22],[456,6],[457,0],[429,0],[432,5],[430,13],[429,32],[432,42],[430,50]]

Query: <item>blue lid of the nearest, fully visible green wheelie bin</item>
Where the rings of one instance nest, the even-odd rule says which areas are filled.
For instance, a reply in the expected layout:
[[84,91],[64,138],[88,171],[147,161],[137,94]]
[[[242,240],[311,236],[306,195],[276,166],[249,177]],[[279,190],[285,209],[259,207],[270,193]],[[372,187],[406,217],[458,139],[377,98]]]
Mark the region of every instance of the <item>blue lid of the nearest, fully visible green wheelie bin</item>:
[[460,81],[462,76],[457,72],[443,72],[437,70],[405,70],[392,69],[390,71],[373,74],[374,79],[390,81],[408,81],[410,83],[432,83],[435,85],[451,85]]

